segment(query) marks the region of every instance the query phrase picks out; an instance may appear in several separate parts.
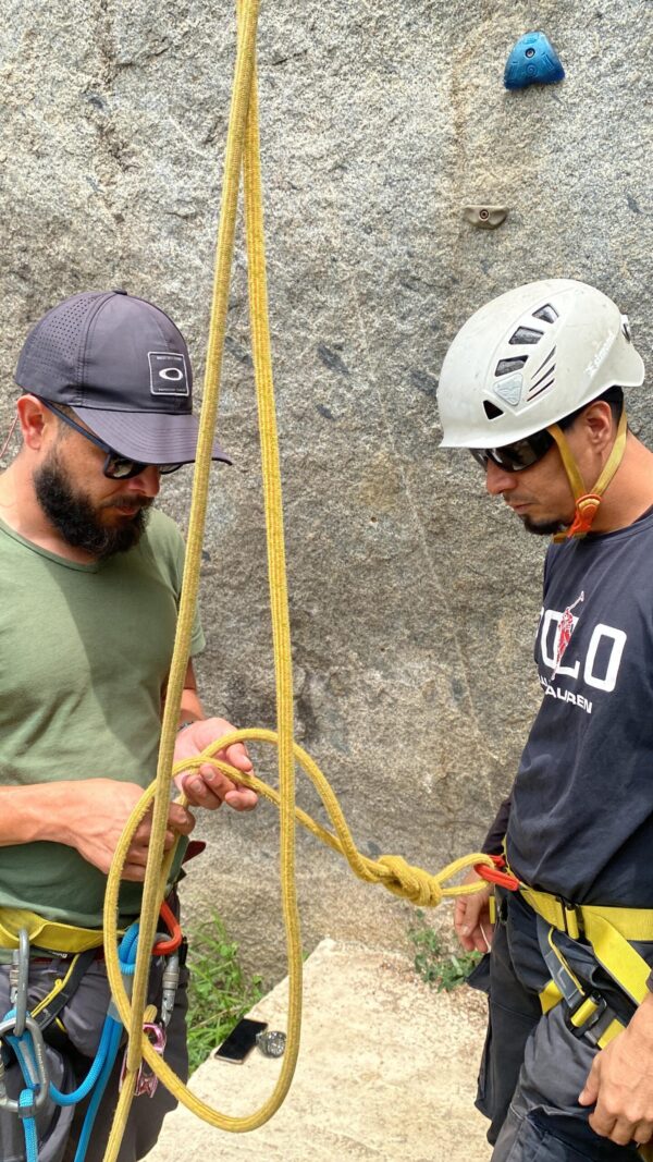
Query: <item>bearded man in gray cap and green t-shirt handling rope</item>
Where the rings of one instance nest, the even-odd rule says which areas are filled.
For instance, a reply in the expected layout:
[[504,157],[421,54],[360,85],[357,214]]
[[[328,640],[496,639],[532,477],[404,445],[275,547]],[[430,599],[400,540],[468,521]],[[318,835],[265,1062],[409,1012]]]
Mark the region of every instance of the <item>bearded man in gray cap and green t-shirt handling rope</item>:
[[[152,502],[162,475],[194,461],[198,422],[181,333],[163,310],[124,290],[78,294],[50,310],[29,333],[15,379],[23,392],[16,404],[22,446],[0,476],[0,1021],[13,1000],[10,949],[27,928],[28,1011],[45,999],[37,1021],[50,1081],[70,1093],[88,1071],[107,1013],[106,973],[93,944],[117,840],[156,775],[174,643],[184,543]],[[229,462],[217,444],[213,459]],[[196,621],[191,653],[203,645]],[[175,759],[231,729],[204,716],[189,661]],[[224,758],[252,769],[241,744]],[[210,768],[181,783],[192,808],[256,805],[252,791]],[[166,848],[194,822],[191,810],[172,803]],[[121,927],[138,914],[149,833],[146,817],[124,867]],[[182,854],[171,876],[173,910]],[[153,957],[150,999],[159,1014],[152,1035],[167,1038],[166,1060],[185,1075],[185,990],[164,1028],[164,967]],[[20,1162],[26,1138],[12,1100],[24,1081],[2,1035],[0,1157]],[[76,1112],[41,1096],[41,1162],[102,1159],[120,1064],[119,1056],[85,1128],[92,1097]],[[144,1095],[151,1089],[144,1077]],[[173,1105],[162,1086],[138,1097],[120,1162],[152,1148]]]

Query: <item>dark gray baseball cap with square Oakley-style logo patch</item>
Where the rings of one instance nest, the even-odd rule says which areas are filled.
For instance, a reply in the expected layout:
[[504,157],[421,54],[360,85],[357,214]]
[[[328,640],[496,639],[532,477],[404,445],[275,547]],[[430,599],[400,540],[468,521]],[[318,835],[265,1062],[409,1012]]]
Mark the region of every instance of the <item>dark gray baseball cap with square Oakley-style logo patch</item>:
[[[192,464],[199,423],[184,336],[168,316],[127,290],[86,290],[58,303],[29,332],[19,387],[66,403],[114,451],[143,464]],[[231,461],[217,444],[213,459]]]

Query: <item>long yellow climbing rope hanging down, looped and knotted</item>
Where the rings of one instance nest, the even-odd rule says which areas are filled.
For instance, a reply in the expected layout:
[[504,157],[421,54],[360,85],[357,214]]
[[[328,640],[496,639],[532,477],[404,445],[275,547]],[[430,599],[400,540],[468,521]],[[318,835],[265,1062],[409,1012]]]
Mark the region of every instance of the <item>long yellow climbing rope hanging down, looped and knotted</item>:
[[[444,882],[473,863],[488,863],[489,856],[467,855],[457,860],[437,876],[419,868],[411,868],[400,856],[383,856],[373,861],[360,855],[351,838],[337,799],[326,780],[310,756],[293,737],[293,674],[288,618],[284,523],[281,507],[281,476],[277,440],[277,418],[272,382],[272,357],[267,318],[267,286],[265,272],[265,242],[260,162],[258,136],[258,98],[256,79],[256,37],[259,0],[239,0],[238,49],[234,92],[227,142],[222,206],[216,248],[209,342],[204,373],[200,436],[193,481],[193,497],[187,538],[186,564],[181,588],[174,653],[167,686],[166,705],[162,727],[162,743],[157,779],[135,808],[119,844],[107,884],[105,903],[105,953],[107,973],[121,1020],[129,1033],[125,1078],[105,1162],[115,1162],[134,1098],[135,1082],[142,1060],[145,1059],[160,1082],[189,1110],[220,1129],[244,1132],[263,1125],[284,1100],[296,1064],[301,1023],[301,937],[295,894],[295,815],[314,834],[330,847],[342,852],[353,871],[367,882],[383,883],[390,891],[414,903],[433,905],[444,896],[476,890],[475,885],[445,887]],[[224,346],[229,282],[234,256],[236,213],[241,172],[244,181],[245,231],[247,245],[250,314],[253,364],[257,385],[265,514],[267,532],[268,582],[272,607],[274,673],[277,679],[277,731],[244,730],[220,739],[203,755],[193,761],[173,766],[179,705],[191,645],[191,631],[196,604],[201,547],[206,523],[210,453],[217,416],[220,375]],[[278,747],[279,791],[266,787],[258,779],[245,777],[228,765],[211,758],[214,753],[237,740],[270,743]],[[152,1049],[143,1035],[143,1013],[150,967],[150,949],[156,933],[157,918],[163,899],[172,853],[164,856],[164,837],[172,780],[180,769],[189,770],[210,761],[236,782],[253,787],[266,798],[278,803],[280,810],[281,898],[288,949],[289,1009],[287,1046],[281,1070],[271,1097],[258,1111],[246,1118],[230,1118],[200,1102],[173,1074],[166,1062]],[[295,809],[294,767],[297,761],[317,787],[336,829],[331,834],[304,812]],[[143,887],[138,956],[131,999],[128,997],[117,960],[117,903],[127,851],[138,823],[153,801],[152,831],[148,868]],[[184,797],[181,798],[185,802]],[[480,887],[480,884],[479,884]]]

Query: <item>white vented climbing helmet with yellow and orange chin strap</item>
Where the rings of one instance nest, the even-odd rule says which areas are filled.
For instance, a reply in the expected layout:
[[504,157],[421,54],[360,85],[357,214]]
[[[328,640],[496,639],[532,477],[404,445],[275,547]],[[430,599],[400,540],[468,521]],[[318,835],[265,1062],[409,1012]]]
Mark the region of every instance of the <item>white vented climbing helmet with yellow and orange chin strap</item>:
[[545,279],[502,294],[459,330],[440,373],[443,447],[501,447],[609,387],[639,387],[629,321],[601,290]]

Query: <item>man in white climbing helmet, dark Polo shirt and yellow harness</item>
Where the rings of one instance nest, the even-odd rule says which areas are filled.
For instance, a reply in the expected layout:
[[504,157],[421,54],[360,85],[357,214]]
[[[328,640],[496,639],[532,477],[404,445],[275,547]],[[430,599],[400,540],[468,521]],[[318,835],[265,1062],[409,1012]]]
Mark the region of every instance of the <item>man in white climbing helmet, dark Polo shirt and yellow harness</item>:
[[443,446],[555,541],[543,703],[486,840],[517,890],[455,909],[466,948],[494,931],[476,973],[494,1162],[653,1159],[653,453],[623,406],[643,381],[627,318],[567,279],[476,311],[440,375]]

